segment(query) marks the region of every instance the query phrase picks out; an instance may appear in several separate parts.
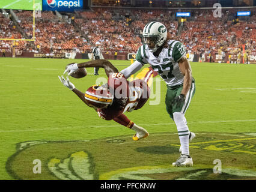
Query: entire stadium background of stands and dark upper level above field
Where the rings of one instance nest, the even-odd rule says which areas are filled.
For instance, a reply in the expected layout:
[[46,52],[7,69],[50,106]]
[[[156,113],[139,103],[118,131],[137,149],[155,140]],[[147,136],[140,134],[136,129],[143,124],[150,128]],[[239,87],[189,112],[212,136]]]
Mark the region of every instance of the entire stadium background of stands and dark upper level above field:
[[[215,3],[222,5],[221,18],[213,17]],[[72,12],[35,14],[35,41],[1,41],[0,50],[4,53],[0,54],[66,58],[76,53],[75,58],[88,59],[98,41],[105,59],[114,59],[115,52],[117,59],[131,59],[134,55],[128,54],[136,53],[140,46],[144,25],[156,20],[166,25],[172,38],[186,46],[192,56],[190,61],[231,63],[239,57],[244,63],[245,56],[253,63],[255,4],[256,1],[250,0],[83,1],[82,9]],[[237,11],[251,11],[251,14],[237,16]],[[176,17],[177,12],[189,12],[190,17]],[[32,10],[1,9],[0,20],[0,38],[33,38]]]

